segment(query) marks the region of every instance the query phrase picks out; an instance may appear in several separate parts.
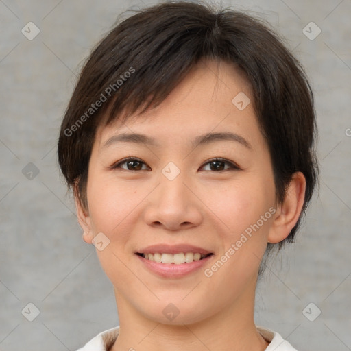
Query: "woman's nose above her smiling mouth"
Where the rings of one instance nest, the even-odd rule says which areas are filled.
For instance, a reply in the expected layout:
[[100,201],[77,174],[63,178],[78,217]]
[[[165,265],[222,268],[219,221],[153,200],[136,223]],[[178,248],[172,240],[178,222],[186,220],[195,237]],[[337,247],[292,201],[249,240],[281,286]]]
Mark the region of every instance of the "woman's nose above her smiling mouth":
[[148,197],[145,222],[171,231],[199,226],[203,218],[202,206],[191,184],[182,172],[173,180],[161,174],[160,184]]

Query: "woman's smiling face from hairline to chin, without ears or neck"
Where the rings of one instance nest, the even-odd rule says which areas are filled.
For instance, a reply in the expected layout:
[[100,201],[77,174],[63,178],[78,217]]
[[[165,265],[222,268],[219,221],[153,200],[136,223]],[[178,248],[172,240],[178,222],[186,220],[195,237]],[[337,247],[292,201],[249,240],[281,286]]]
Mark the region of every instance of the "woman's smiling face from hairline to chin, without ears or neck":
[[189,324],[252,311],[276,198],[248,99],[232,66],[202,62],[158,108],[99,128],[83,226],[120,317]]

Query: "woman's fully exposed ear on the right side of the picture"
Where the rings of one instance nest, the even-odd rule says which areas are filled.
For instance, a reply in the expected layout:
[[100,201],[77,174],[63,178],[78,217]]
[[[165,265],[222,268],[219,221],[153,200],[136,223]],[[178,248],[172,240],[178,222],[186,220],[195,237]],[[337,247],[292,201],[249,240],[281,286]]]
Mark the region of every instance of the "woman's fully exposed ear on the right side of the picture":
[[304,178],[303,173],[293,173],[285,199],[278,206],[269,230],[267,238],[269,243],[279,243],[290,234],[300,217],[302,206],[304,205],[305,191],[306,178]]

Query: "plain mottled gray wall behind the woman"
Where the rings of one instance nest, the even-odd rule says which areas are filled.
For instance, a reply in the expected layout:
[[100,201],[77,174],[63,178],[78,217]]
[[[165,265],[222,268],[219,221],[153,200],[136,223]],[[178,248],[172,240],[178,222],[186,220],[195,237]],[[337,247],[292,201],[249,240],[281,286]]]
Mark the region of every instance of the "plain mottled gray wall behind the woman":
[[[60,179],[56,141],[90,49],[118,14],[149,3],[0,0],[1,351],[75,350],[118,324],[112,286],[95,248],[82,241]],[[315,91],[320,134],[319,197],[298,242],[267,267],[256,323],[298,350],[351,350],[351,1],[226,4],[260,13],[286,38]],[[40,28],[34,40],[21,33],[29,21]],[[314,40],[302,32],[311,21],[322,30]],[[34,171],[32,180],[23,169]],[[310,319],[322,311],[314,322],[302,313],[311,302]],[[33,322],[24,317],[34,317],[28,303],[40,311]]]

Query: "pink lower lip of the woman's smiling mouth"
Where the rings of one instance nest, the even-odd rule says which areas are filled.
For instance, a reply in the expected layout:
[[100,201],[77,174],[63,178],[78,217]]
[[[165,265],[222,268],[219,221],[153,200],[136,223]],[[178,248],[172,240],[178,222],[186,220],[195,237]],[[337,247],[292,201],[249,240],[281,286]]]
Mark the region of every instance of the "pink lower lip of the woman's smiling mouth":
[[156,273],[158,276],[162,276],[164,278],[181,278],[186,276],[186,274],[191,274],[202,266],[206,265],[208,260],[213,255],[202,258],[199,261],[193,261],[191,263],[181,263],[180,265],[175,265],[174,263],[157,263],[155,261],[147,260],[142,256],[136,255],[139,260],[153,273]]

